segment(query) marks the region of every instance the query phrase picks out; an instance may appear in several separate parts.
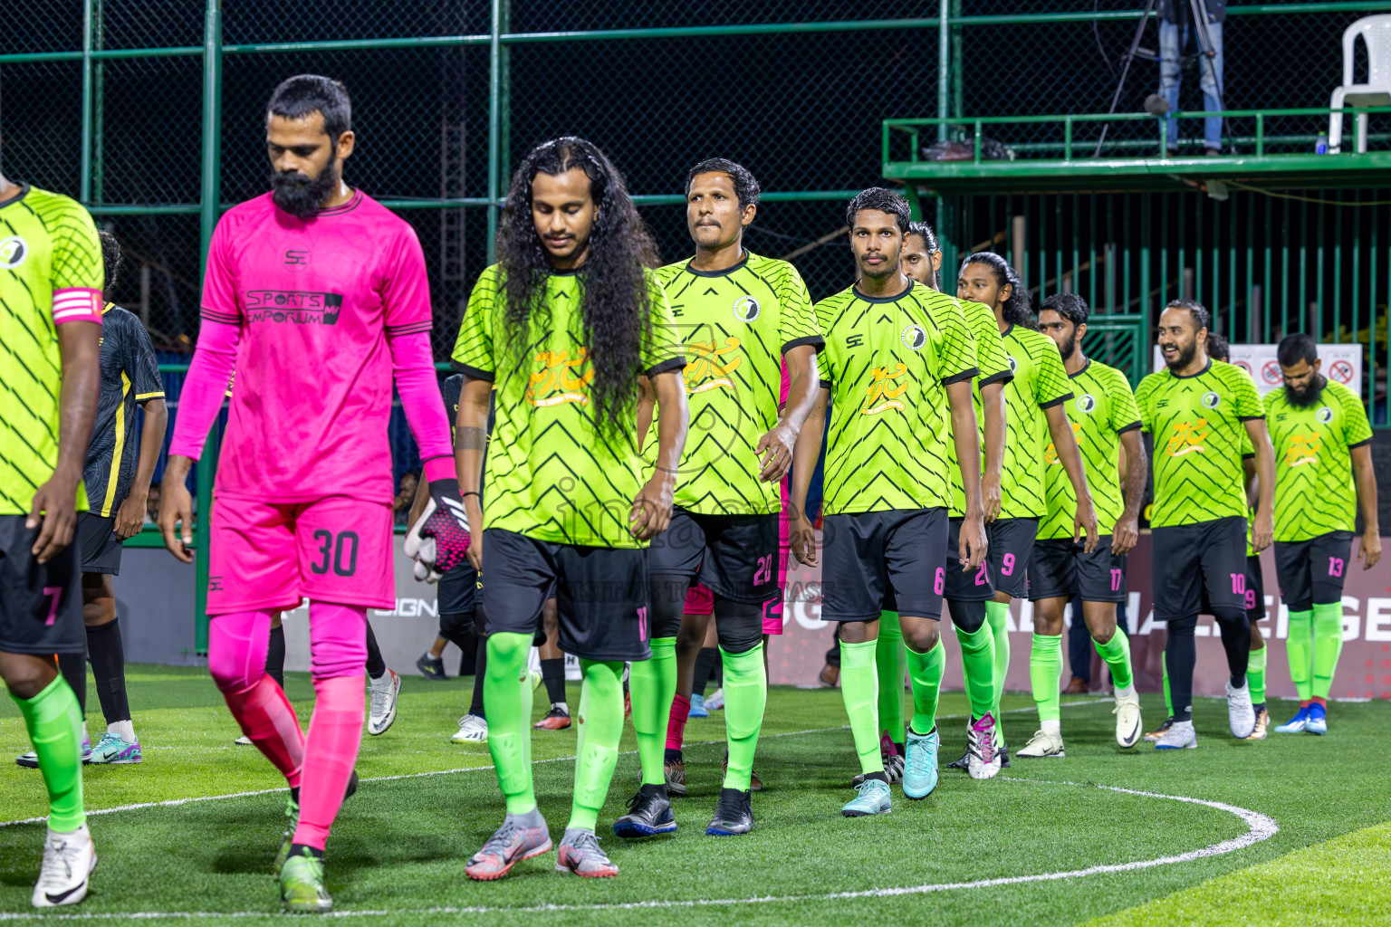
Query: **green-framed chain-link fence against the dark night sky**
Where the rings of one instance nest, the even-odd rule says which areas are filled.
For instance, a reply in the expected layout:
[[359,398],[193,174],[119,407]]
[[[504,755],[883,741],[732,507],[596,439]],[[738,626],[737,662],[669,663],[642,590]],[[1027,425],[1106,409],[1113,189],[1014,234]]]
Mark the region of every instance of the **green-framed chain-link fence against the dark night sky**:
[[[349,179],[420,235],[440,357],[488,261],[490,193],[505,192],[529,146],[559,133],[611,153],[666,260],[690,250],[687,167],[716,154],[747,164],[769,193],[751,247],[793,256],[822,297],[850,278],[837,231],[849,192],[879,181],[881,120],[1104,111],[1143,6],[944,3],[31,0],[0,32],[0,165],[92,206],[132,257],[118,302],[185,352],[198,334],[200,242],[217,215],[204,174],[220,161],[207,189],[221,206],[266,189],[264,101],[306,71],[353,96]],[[1326,106],[1342,76],[1342,29],[1387,10],[1234,0],[1227,107]],[[1155,21],[1142,46],[1157,46]],[[1185,65],[1181,108],[1202,108],[1196,67]],[[1138,111],[1157,81],[1157,64],[1136,60],[1120,110]],[[213,103],[220,118],[204,126]],[[1312,146],[1324,128],[1309,117],[1267,132]],[[1185,131],[1195,145],[1196,129]],[[1230,129],[1238,140],[1251,132]],[[1017,157],[1059,145],[1059,131],[990,126]],[[1111,124],[1109,138],[1153,145],[1153,124]]]

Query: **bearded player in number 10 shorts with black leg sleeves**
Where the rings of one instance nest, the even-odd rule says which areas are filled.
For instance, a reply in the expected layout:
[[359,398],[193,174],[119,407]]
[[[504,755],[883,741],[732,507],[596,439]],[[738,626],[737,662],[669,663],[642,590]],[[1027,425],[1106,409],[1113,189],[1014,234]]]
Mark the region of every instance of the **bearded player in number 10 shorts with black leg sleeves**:
[[1252,546],[1270,546],[1274,454],[1256,385],[1246,371],[1207,356],[1212,317],[1195,300],[1171,302],[1159,317],[1166,370],[1135,391],[1142,427],[1155,441],[1152,568],[1155,617],[1168,623],[1164,660],[1174,723],[1157,749],[1198,746],[1192,723],[1193,631],[1207,592],[1227,653],[1227,720],[1232,737],[1256,728],[1246,685],[1251,620],[1246,616],[1246,493],[1244,436],[1255,453],[1260,500]]

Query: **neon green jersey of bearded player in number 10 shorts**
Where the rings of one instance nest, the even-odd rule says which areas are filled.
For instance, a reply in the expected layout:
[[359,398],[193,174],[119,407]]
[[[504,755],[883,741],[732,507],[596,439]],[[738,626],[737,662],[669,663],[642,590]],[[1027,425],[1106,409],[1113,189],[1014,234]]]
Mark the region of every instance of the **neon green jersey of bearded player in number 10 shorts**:
[[1166,528],[1245,518],[1244,423],[1264,413],[1246,371],[1212,361],[1191,377],[1161,370],[1139,382],[1135,404],[1155,436],[1149,523]]

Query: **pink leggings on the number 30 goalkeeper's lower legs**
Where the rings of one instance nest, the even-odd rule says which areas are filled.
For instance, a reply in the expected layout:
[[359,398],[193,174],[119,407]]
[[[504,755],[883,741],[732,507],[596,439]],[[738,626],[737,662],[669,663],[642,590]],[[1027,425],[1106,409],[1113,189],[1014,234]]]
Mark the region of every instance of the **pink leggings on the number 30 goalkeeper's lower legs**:
[[242,732],[285,774],[291,788],[299,788],[295,842],[321,851],[362,742],[367,609],[309,605],[316,700],[307,738],[299,732],[299,719],[285,694],[266,675],[271,617],[271,612],[214,616],[207,668]]

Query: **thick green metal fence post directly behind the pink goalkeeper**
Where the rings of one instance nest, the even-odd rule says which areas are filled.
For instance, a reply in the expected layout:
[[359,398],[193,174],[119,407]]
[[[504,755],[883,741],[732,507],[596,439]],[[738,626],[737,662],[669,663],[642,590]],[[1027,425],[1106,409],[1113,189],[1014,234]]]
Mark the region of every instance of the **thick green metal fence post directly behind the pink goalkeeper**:
[[[217,227],[217,204],[221,199],[223,163],[223,0],[207,0],[203,15],[203,183],[199,211],[202,267],[207,267],[207,249]],[[195,648],[207,653],[207,545],[209,521],[213,513],[213,477],[217,473],[218,434],[203,446],[198,467],[198,517],[195,518],[195,596],[198,616]]]

